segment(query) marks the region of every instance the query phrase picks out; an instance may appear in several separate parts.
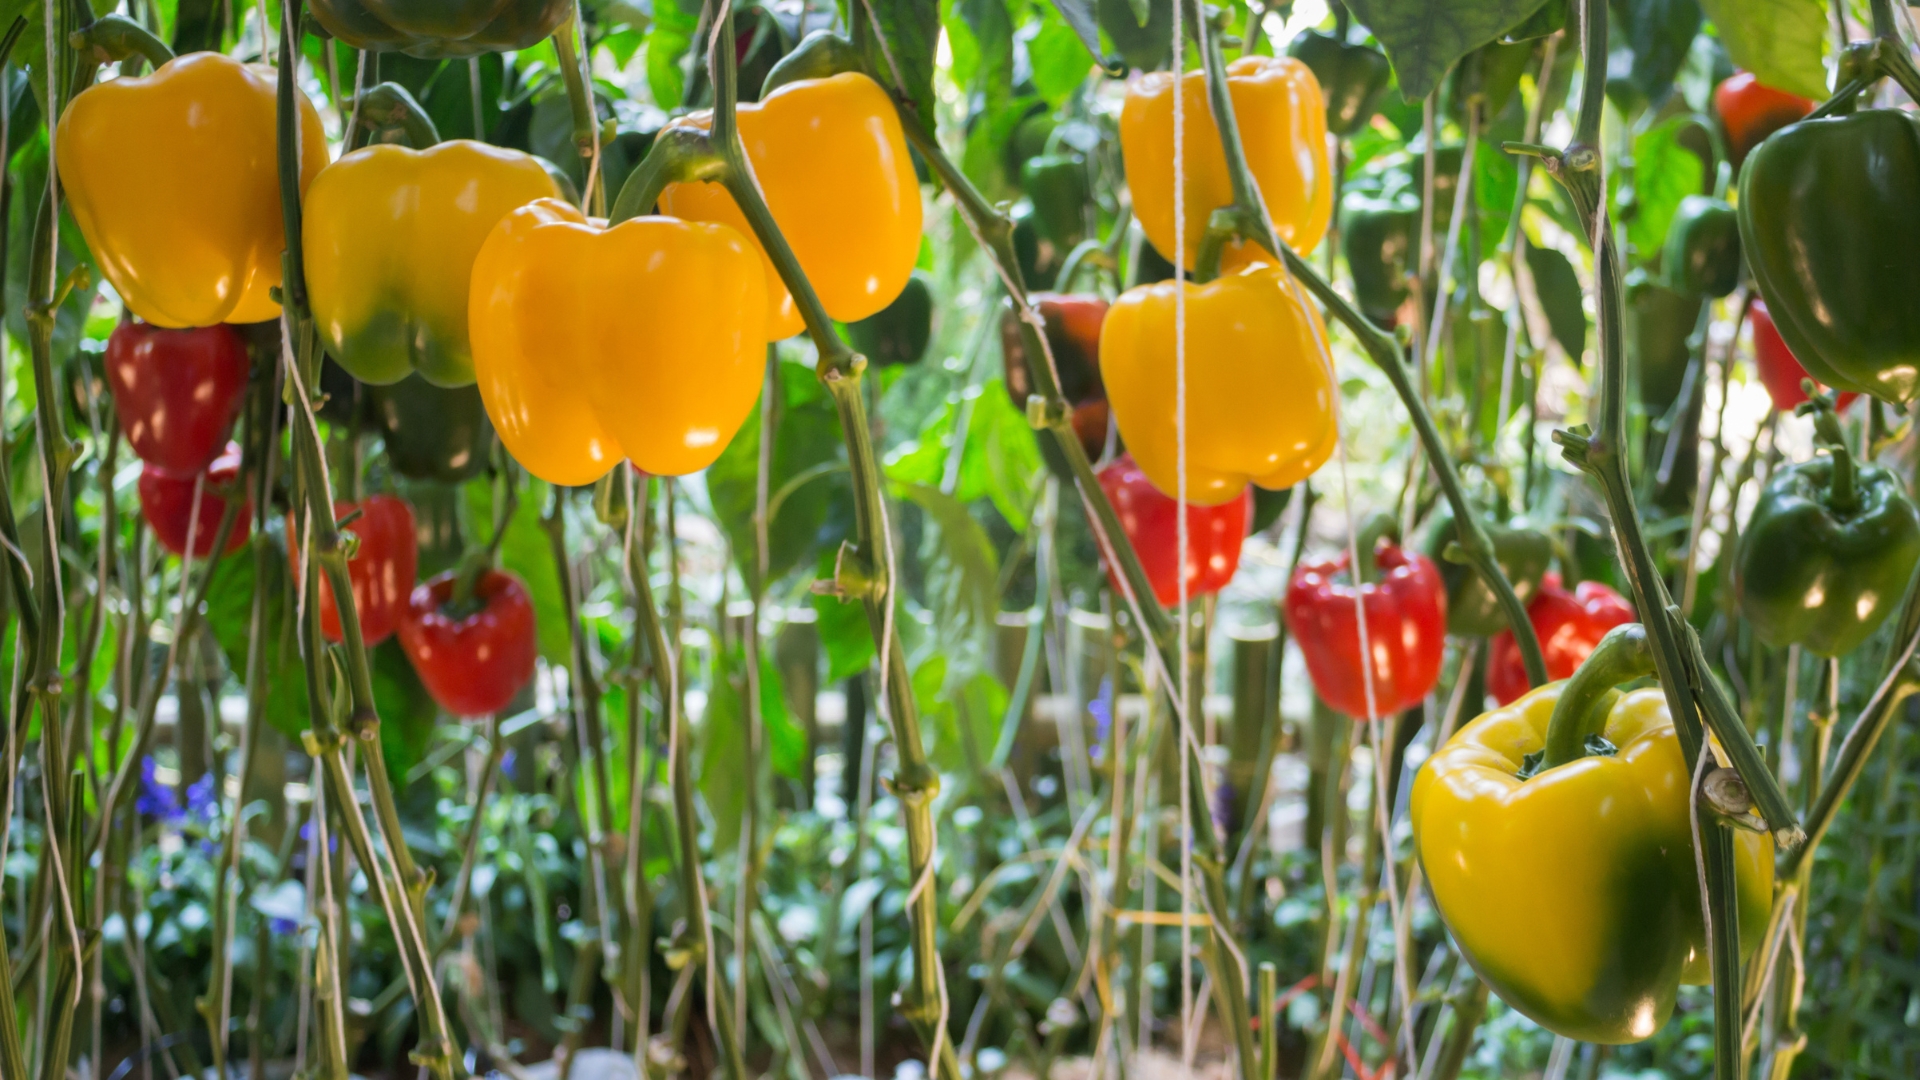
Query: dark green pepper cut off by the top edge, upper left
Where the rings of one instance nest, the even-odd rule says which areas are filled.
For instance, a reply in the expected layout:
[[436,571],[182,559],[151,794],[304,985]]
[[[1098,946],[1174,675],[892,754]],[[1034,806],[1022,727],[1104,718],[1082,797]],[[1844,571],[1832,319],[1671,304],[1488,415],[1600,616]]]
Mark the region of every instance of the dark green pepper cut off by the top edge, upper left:
[[572,0],[313,0],[313,17],[353,48],[428,60],[532,48],[574,12]]

